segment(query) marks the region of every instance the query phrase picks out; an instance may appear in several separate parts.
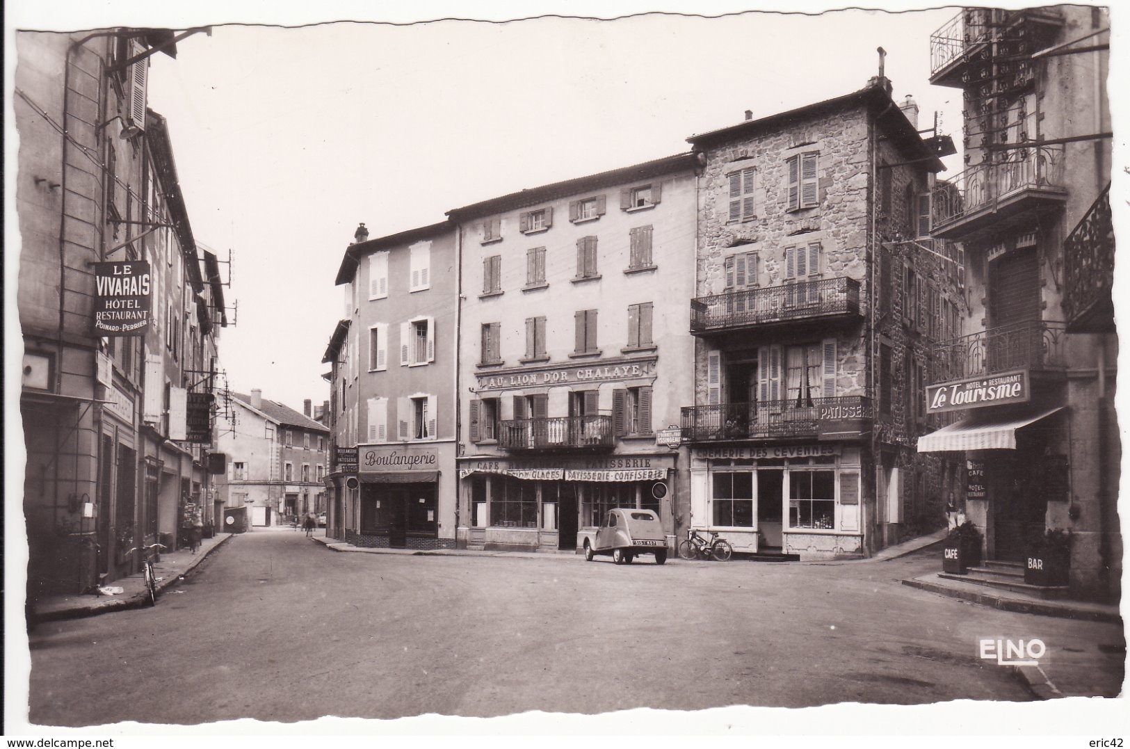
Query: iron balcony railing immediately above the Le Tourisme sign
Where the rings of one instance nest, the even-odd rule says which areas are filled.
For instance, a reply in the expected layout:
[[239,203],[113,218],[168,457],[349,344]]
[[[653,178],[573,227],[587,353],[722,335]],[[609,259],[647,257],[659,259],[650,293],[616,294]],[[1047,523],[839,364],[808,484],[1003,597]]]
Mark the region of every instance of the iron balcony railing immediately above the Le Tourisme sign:
[[933,349],[930,384],[1009,369],[1062,369],[1064,332],[1062,322],[1026,320],[945,341]]

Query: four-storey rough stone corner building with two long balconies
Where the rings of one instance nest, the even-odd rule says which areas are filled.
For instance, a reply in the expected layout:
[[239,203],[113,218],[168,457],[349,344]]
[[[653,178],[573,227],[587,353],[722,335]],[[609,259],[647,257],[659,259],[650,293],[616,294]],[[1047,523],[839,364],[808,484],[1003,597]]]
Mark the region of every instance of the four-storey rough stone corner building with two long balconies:
[[736,551],[866,556],[942,523],[956,463],[915,453],[927,419],[901,404],[964,302],[960,253],[921,208],[947,139],[918,130],[877,77],[688,139],[705,164],[690,516]]

